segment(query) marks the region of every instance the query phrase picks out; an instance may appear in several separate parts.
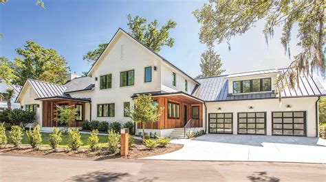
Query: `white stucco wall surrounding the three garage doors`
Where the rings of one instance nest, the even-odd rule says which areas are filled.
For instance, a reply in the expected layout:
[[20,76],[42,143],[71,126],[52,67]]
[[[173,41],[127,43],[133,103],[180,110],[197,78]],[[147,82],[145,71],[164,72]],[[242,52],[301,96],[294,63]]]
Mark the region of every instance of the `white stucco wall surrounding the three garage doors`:
[[[316,137],[316,101],[318,97],[282,99],[259,99],[248,101],[228,101],[206,103],[207,114],[209,113],[233,113],[233,134],[237,134],[237,113],[238,112],[267,112],[266,133],[272,135],[272,112],[305,111],[307,112],[307,136]],[[287,108],[290,105],[291,108]],[[253,109],[249,109],[252,106]],[[218,108],[221,107],[221,110]],[[207,122],[208,122],[208,115]],[[208,126],[208,123],[207,123]],[[318,126],[317,126],[318,127]],[[208,132],[208,129],[207,129]]]

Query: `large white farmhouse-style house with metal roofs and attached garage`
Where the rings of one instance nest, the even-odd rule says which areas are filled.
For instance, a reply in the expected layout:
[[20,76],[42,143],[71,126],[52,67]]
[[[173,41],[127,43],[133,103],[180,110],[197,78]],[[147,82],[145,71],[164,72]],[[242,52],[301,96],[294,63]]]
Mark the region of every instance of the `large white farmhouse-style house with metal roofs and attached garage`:
[[193,79],[118,29],[87,77],[65,85],[29,79],[17,101],[34,105],[43,129],[58,126],[53,120],[56,105],[78,109],[74,127],[84,120],[127,122],[131,119],[125,109],[133,107],[137,94],[151,93],[153,104],[164,111],[160,120],[146,125],[146,133],[184,136],[186,126],[206,133],[316,136],[316,101],[326,91],[318,80],[302,75],[300,89],[286,88],[280,104],[274,83],[282,71]]

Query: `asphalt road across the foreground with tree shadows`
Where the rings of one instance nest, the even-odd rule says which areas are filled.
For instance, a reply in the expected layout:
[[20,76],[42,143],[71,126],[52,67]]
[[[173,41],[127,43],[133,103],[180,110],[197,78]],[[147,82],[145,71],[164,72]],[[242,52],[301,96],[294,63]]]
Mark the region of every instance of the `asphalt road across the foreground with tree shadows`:
[[326,181],[325,164],[0,155],[0,181]]

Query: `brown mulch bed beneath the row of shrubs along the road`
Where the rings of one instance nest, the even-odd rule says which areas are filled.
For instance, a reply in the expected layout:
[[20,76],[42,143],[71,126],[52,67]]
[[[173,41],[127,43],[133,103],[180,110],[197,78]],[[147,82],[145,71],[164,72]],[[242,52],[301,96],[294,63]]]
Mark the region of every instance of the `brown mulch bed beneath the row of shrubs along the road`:
[[91,158],[96,160],[127,158],[137,159],[140,157],[149,157],[153,155],[162,155],[180,150],[183,147],[181,144],[168,144],[166,147],[157,147],[153,150],[146,149],[141,140],[135,140],[135,144],[129,149],[127,157],[121,157],[120,153],[111,154],[107,151],[107,147],[102,147],[100,151],[91,152],[89,148],[79,148],[78,151],[67,151],[66,148],[58,147],[56,151],[52,150],[50,146],[38,146],[34,150],[30,145],[21,145],[19,148],[12,144],[0,146],[0,153],[14,153],[23,155],[43,155],[43,156],[58,156],[58,157],[78,157]]

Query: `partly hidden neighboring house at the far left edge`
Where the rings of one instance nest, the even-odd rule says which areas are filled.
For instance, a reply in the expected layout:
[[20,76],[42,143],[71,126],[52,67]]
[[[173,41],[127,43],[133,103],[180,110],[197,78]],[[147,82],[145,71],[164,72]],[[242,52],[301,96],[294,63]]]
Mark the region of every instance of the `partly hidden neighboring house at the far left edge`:
[[21,105],[19,103],[15,103],[14,101],[16,100],[19,92],[21,92],[21,86],[17,86],[17,85],[12,85],[12,84],[7,84],[6,81],[4,81],[3,79],[1,79],[0,77],[0,93],[2,96],[0,96],[0,112],[2,112],[4,109],[8,108],[8,100],[6,99],[7,96],[7,90],[8,89],[13,89],[14,90],[14,96],[12,96],[12,105],[11,107],[13,109],[15,108],[20,108]]

